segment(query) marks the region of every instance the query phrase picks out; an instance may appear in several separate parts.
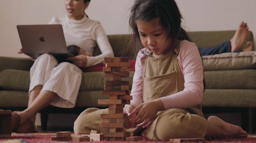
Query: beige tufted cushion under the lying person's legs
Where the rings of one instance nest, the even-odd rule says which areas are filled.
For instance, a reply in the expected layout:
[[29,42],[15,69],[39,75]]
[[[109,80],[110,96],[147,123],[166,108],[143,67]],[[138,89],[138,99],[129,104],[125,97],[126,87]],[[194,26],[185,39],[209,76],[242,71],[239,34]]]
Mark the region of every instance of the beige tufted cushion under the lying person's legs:
[[256,69],[256,51],[203,56],[204,71]]

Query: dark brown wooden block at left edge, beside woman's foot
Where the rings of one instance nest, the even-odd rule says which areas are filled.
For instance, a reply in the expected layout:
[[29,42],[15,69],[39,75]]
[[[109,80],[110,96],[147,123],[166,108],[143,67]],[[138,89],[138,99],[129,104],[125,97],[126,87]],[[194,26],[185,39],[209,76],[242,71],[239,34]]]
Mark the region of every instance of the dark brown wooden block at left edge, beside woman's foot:
[[0,110],[0,138],[11,137],[12,133],[12,111]]

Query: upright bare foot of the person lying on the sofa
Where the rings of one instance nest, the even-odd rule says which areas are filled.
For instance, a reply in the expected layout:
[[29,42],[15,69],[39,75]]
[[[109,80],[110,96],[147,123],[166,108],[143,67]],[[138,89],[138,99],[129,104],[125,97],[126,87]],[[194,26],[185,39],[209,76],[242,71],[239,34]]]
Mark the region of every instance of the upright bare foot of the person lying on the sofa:
[[236,33],[230,39],[231,52],[241,49],[241,46],[244,43],[245,39],[248,37],[248,34],[249,34],[249,27],[247,23],[241,22]]

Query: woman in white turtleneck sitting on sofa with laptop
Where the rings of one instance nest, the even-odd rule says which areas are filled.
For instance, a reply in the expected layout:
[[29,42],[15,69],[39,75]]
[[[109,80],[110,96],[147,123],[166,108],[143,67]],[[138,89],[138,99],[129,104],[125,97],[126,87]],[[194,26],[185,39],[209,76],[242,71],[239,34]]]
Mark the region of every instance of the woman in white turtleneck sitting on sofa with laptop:
[[[73,64],[59,64],[50,54],[40,55],[30,69],[28,108],[12,113],[12,130],[33,131],[36,113],[49,104],[65,108],[74,107],[82,78],[82,71],[78,67],[93,66],[102,63],[106,56],[114,56],[100,22],[89,19],[84,13],[89,4],[90,0],[66,0],[66,17],[53,17],[49,24],[62,24],[67,45],[77,45],[91,54],[98,45],[102,54],[80,54],[68,58]],[[22,50],[19,53],[22,53]]]

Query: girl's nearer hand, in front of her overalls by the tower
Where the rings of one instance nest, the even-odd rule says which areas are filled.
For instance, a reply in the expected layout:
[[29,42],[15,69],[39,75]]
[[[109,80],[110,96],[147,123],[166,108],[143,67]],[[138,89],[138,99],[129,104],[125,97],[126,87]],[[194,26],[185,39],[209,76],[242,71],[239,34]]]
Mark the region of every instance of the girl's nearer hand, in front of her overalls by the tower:
[[161,110],[164,110],[164,106],[160,99],[141,103],[132,111],[132,115],[136,116],[132,119],[132,123],[137,127],[147,128],[157,118],[157,112]]

